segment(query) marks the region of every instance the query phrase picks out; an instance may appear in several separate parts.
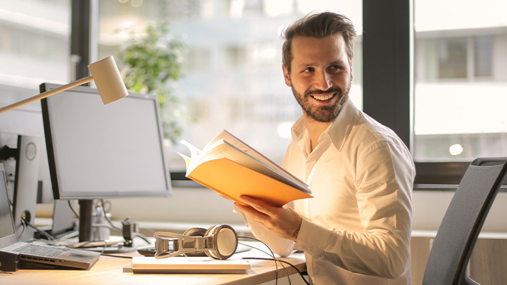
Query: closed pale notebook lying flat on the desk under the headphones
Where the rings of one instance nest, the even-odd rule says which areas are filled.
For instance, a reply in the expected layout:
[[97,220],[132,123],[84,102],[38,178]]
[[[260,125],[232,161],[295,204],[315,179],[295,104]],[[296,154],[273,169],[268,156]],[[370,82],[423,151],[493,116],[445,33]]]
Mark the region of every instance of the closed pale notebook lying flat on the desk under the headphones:
[[[239,273],[250,269],[250,263],[242,259],[215,260],[201,257],[174,257],[156,259],[154,257],[132,258],[134,273]],[[124,272],[128,272],[125,271]]]

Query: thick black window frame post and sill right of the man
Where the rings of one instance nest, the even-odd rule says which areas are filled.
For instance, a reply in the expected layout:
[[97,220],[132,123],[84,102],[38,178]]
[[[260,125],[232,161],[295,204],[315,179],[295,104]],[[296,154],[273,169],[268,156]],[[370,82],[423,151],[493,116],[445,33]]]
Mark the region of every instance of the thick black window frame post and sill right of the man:
[[[413,0],[363,0],[363,110],[396,132],[411,153],[415,78],[413,9]],[[413,190],[455,191],[470,163],[415,161]],[[502,186],[500,191],[507,188]]]

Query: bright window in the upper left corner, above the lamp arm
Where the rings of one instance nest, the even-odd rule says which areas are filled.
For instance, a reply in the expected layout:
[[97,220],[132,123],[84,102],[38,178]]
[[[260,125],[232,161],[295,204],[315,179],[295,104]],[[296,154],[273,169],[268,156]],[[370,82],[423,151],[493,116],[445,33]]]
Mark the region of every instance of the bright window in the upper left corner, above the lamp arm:
[[[0,1],[0,104],[70,80],[70,1]],[[37,48],[34,48],[37,46]],[[40,110],[40,103],[24,108]]]

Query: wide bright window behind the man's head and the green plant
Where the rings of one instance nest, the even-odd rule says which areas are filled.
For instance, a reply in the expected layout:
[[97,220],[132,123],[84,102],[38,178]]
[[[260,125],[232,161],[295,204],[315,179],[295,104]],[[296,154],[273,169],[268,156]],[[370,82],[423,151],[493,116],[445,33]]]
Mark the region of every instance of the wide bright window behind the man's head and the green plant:
[[[182,138],[203,147],[227,129],[281,163],[290,127],[301,115],[282,74],[284,27],[313,11],[336,11],[349,16],[359,34],[353,62],[350,96],[362,106],[361,1],[302,0],[132,0],[99,1],[99,55],[115,55],[127,34],[120,27],[142,33],[149,21],[170,20],[170,31],[187,46],[184,76],[176,82],[189,121],[182,121]],[[179,139],[178,139],[179,140]],[[175,145],[170,167],[183,170]]]

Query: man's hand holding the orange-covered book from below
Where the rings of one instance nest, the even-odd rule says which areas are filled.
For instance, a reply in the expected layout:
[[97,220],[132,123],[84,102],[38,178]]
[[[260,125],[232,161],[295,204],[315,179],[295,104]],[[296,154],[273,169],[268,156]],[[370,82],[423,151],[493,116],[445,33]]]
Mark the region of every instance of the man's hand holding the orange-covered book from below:
[[245,205],[234,203],[237,210],[242,211],[273,234],[296,241],[303,219],[294,210],[289,207],[273,207],[249,196],[241,196],[239,199]]

